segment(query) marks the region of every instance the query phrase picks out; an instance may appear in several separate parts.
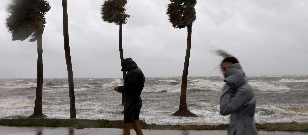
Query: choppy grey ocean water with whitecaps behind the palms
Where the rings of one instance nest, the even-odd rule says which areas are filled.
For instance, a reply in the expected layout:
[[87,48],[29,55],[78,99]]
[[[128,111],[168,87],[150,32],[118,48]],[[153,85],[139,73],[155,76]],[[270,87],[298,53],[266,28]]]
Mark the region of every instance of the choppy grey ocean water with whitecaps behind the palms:
[[[308,122],[308,75],[246,76],[257,96],[256,122]],[[174,117],[181,77],[146,77],[140,117],[147,123],[226,123],[219,114],[222,76],[188,77],[187,106],[199,117]],[[69,118],[67,78],[43,79],[43,114]],[[122,94],[113,90],[122,78],[74,78],[78,119],[122,118]],[[36,79],[0,79],[0,118],[26,118],[33,113]]]

